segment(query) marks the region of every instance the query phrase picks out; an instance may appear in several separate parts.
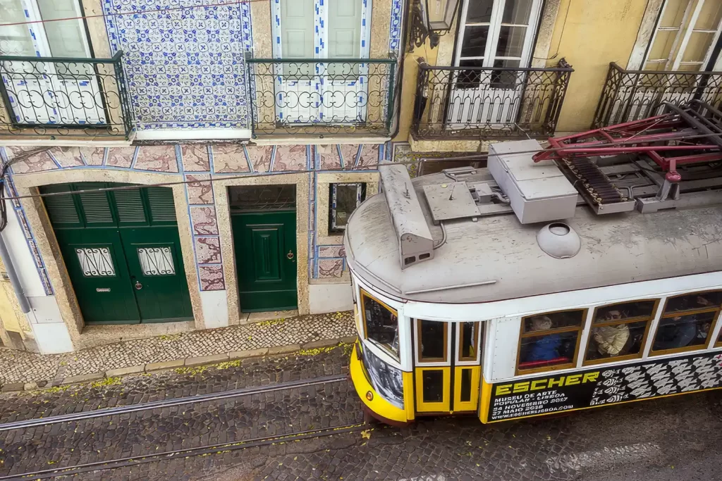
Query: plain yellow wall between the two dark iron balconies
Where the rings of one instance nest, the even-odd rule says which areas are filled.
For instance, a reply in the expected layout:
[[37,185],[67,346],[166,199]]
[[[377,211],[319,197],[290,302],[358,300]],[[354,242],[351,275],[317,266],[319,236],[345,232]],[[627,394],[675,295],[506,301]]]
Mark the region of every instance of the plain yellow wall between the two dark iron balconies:
[[599,103],[609,62],[623,68],[648,0],[561,0],[547,66],[564,57],[574,68],[557,132],[586,131]]

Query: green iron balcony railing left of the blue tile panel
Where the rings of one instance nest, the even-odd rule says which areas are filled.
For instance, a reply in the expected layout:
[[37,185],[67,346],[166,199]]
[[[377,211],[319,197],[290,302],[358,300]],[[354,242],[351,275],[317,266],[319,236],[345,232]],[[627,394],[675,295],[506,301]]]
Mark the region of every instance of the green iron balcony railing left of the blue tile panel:
[[122,56],[0,56],[0,136],[128,138],[134,120]]

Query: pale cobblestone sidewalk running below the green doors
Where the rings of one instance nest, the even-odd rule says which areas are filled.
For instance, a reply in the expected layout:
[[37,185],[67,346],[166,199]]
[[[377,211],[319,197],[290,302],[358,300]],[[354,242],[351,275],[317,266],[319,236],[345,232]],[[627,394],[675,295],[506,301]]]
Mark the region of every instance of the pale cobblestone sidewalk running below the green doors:
[[120,371],[130,368],[136,368],[131,372],[139,372],[144,368],[154,370],[220,362],[224,357],[243,357],[248,351],[263,355],[270,348],[272,353],[279,346],[289,352],[304,345],[338,341],[352,335],[355,335],[352,312],[336,312],[149,337],[74,353],[42,355],[2,350],[0,384],[4,390],[11,388],[11,384],[14,385],[12,389],[22,389],[19,383],[36,383],[42,387],[53,381],[58,384],[64,379],[85,375],[88,379],[77,381],[92,381],[95,380],[92,375],[102,378],[103,374],[99,373],[108,371],[121,374]]

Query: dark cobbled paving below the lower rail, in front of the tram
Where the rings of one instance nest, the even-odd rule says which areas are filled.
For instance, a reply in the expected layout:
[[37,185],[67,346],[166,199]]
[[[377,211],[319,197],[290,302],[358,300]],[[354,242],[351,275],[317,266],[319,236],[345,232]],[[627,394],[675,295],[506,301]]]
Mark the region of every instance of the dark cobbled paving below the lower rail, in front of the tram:
[[72,479],[720,480],[721,408],[721,394],[710,392],[495,425],[427,419],[404,429],[375,428],[368,438],[348,433]]

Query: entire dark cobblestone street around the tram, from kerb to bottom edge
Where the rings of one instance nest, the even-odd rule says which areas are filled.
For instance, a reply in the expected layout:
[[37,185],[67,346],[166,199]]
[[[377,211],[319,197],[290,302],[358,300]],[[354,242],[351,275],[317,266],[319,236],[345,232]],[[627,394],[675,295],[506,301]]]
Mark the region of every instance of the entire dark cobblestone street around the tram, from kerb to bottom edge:
[[[345,374],[349,348],[323,348],[2,394],[0,423]],[[0,476],[360,423],[346,379],[325,385],[90,420],[0,436]],[[716,480],[720,392],[482,425],[437,418],[368,431],[181,456],[59,480]]]

